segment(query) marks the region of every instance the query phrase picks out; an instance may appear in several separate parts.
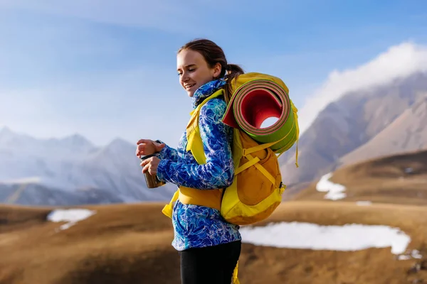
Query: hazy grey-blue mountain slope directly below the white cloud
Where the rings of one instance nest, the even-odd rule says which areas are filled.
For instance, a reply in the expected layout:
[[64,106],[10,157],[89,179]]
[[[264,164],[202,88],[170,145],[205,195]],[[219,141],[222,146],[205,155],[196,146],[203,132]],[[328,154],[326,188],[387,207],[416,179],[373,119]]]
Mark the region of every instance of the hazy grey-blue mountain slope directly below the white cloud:
[[[309,182],[333,170],[339,158],[374,138],[426,91],[427,74],[417,73],[373,89],[344,94],[321,111],[302,134],[300,168],[295,168],[294,155],[280,157],[283,182],[287,185]],[[421,124],[425,122],[418,119],[416,125]]]

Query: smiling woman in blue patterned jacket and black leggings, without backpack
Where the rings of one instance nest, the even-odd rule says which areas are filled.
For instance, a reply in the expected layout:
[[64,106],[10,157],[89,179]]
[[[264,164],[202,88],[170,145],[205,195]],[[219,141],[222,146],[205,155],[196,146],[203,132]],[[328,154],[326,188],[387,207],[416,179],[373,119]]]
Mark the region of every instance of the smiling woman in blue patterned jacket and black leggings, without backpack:
[[[191,152],[186,151],[184,132],[177,149],[161,141],[139,140],[138,156],[159,152],[159,158],[152,157],[141,163],[142,172],[157,175],[164,182],[199,190],[228,187],[234,176],[233,131],[221,119],[231,97],[229,82],[243,70],[228,64],[216,43],[201,39],[179,49],[177,71],[194,109],[218,89],[226,91],[223,97],[211,99],[201,107],[199,128],[206,164],[199,165]],[[183,204],[179,200],[174,205],[172,222],[172,246],[181,257],[181,283],[231,283],[241,253],[239,227],[226,222],[217,209]]]

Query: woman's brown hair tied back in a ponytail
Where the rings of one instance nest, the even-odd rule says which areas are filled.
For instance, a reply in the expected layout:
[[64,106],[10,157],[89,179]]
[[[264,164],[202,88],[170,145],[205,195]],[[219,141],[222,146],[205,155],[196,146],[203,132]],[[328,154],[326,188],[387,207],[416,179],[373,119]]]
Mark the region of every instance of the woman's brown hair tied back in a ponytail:
[[223,49],[212,40],[207,40],[204,38],[191,40],[185,45],[181,46],[181,48],[178,50],[178,53],[180,53],[182,50],[194,50],[199,52],[201,55],[203,55],[204,59],[208,63],[208,66],[211,68],[214,67],[216,63],[221,64],[221,74],[219,77],[221,78],[225,75],[227,83],[225,85],[226,94],[224,95],[224,99],[228,104],[232,95],[231,80],[233,80],[233,78],[235,78],[237,75],[243,74],[243,69],[236,64],[228,64]]

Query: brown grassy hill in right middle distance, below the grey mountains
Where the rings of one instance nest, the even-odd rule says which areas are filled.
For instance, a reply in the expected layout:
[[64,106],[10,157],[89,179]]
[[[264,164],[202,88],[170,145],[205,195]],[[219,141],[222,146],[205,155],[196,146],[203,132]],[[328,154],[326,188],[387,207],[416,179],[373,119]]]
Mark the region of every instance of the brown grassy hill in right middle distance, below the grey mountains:
[[[408,173],[408,169],[411,172]],[[394,155],[340,168],[332,182],[346,187],[345,201],[427,205],[427,151]],[[324,200],[313,182],[292,200]]]

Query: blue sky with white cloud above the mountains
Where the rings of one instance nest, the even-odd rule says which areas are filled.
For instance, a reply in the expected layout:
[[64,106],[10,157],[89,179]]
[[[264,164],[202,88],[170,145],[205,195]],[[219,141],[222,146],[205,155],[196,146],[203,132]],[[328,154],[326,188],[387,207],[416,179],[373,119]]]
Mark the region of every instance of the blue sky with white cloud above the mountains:
[[427,66],[427,1],[1,0],[0,128],[176,146],[191,111],[176,50],[220,45],[280,77],[302,132],[343,92]]

